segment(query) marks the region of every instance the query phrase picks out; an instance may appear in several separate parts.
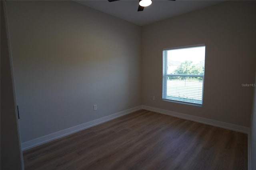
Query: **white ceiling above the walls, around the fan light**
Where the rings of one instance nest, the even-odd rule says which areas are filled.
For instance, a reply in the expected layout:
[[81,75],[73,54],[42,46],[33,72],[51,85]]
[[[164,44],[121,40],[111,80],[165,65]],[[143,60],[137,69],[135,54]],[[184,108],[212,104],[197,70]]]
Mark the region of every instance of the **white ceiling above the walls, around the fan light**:
[[152,0],[152,4],[138,12],[139,0],[75,0],[106,14],[116,16],[139,26],[224,2],[223,0]]

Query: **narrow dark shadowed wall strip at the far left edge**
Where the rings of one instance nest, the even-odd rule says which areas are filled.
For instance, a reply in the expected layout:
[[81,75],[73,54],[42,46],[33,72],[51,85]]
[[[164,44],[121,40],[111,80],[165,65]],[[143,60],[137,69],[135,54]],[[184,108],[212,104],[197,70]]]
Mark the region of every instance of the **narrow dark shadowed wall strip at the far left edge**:
[[13,89],[12,64],[10,60],[4,1],[1,6],[1,170],[22,170],[23,160],[20,148],[15,97]]

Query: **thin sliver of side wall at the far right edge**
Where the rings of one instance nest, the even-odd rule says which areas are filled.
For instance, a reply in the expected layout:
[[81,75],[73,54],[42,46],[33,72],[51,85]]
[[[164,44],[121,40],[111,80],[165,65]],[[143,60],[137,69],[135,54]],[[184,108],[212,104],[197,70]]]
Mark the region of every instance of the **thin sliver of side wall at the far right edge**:
[[[256,75],[256,74],[255,74]],[[255,77],[256,83],[256,77]],[[251,120],[251,163],[252,170],[256,169],[256,87],[254,87],[254,102],[252,105],[252,120]]]

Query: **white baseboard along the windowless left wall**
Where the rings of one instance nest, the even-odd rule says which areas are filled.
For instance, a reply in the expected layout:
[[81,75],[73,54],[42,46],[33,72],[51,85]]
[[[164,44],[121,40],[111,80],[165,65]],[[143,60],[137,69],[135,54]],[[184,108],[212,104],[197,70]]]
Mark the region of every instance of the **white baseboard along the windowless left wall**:
[[30,148],[33,148],[35,146],[39,146],[39,145],[44,144],[46,142],[50,142],[52,140],[67,136],[69,134],[78,132],[80,130],[84,130],[84,129],[90,128],[92,126],[96,126],[98,124],[107,122],[109,120],[118,118],[120,116],[124,116],[126,114],[135,112],[135,111],[140,110],[140,109],[142,109],[142,106],[136,106],[134,108],[130,108],[130,109],[124,110],[122,112],[111,114],[111,115],[105,116],[103,118],[92,120],[90,122],[86,122],[86,123],[83,123],[83,124],[80,124],[80,125],[77,125],[77,126],[73,126],[71,128],[67,128],[67,129],[64,129],[64,130],[60,130],[58,132],[54,132],[52,134],[48,134],[46,136],[42,136],[42,137],[39,137],[39,138],[36,138],[36,139],[33,139],[33,140],[29,140],[29,141],[24,142],[24,143],[21,144],[22,151],[28,150]]

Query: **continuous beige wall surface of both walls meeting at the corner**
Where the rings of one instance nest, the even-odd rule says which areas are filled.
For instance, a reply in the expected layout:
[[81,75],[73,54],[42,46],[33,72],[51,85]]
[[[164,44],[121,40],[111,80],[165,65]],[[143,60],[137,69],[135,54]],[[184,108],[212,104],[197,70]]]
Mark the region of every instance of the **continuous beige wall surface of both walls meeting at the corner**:
[[[22,142],[140,104],[250,126],[255,2],[142,28],[72,1],[6,3]],[[203,106],[162,101],[162,49],[202,43]]]

